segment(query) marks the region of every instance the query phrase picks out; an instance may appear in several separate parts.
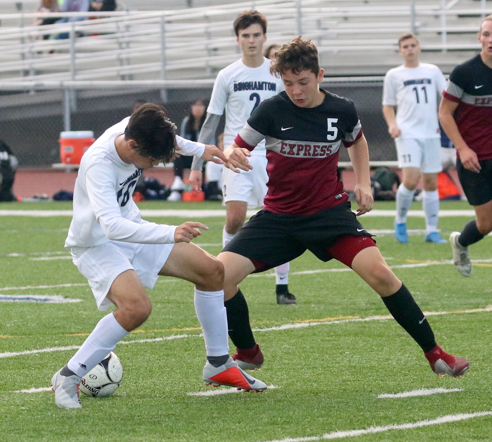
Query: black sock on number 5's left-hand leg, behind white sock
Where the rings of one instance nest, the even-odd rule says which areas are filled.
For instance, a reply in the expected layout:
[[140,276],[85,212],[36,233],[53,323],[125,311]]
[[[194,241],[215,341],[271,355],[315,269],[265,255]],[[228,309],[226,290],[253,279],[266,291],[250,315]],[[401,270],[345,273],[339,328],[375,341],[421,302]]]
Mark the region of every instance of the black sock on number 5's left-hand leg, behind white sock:
[[251,331],[249,311],[241,289],[231,299],[225,301],[224,305],[227,310],[229,337],[233,344],[238,349],[250,349],[254,347],[256,341]]

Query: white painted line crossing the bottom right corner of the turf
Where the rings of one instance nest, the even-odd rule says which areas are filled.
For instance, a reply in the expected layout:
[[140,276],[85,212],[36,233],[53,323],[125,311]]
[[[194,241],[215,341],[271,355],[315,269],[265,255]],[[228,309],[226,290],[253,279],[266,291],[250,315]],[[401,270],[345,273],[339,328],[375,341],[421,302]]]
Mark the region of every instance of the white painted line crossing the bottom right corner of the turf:
[[346,431],[333,431],[331,433],[325,433],[322,436],[309,436],[304,438],[285,438],[276,439],[268,442],[307,442],[307,441],[323,441],[328,439],[342,439],[350,438],[354,436],[362,436],[364,434],[383,433],[389,430],[411,430],[413,428],[429,427],[431,425],[440,425],[449,422],[458,422],[460,420],[473,419],[474,417],[490,416],[492,411],[487,412],[475,412],[475,413],[460,413],[460,414],[446,414],[445,416],[439,416],[435,419],[420,420],[418,422],[408,422],[404,424],[382,425],[378,427],[369,427],[362,430],[346,430]]

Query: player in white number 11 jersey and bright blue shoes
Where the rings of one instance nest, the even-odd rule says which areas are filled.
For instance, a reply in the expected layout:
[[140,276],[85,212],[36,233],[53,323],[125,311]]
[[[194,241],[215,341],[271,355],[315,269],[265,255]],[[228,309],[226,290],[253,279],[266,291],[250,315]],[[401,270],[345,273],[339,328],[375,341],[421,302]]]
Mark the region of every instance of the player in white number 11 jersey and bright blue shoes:
[[[386,73],[383,86],[383,115],[388,132],[395,139],[402,171],[396,195],[395,236],[400,242],[408,242],[406,214],[422,176],[425,240],[446,243],[437,233],[437,174],[442,171],[437,95],[446,87],[446,79],[437,66],[419,61],[420,44],[414,34],[403,34],[398,46],[404,63]],[[397,106],[396,118],[394,106]]]

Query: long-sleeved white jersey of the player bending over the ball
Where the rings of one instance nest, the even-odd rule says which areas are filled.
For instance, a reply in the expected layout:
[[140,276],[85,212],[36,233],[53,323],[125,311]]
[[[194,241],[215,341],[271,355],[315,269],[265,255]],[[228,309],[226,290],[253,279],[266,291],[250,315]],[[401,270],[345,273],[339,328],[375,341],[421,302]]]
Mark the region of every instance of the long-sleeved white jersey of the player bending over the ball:
[[[142,220],[132,195],[143,169],[125,163],[115,147],[130,117],[107,129],[82,156],[73,194],[73,219],[65,247],[93,247],[110,240],[174,243],[176,226]],[[203,155],[205,145],[176,136],[184,154]]]

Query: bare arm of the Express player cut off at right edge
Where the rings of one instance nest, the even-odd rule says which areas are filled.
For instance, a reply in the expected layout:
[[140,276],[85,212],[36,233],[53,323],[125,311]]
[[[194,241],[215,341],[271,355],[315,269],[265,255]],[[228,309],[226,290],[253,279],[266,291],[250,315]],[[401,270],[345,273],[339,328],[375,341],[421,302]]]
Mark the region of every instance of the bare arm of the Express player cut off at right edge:
[[441,122],[444,132],[446,132],[446,135],[453,142],[456,150],[460,154],[460,160],[464,168],[478,174],[481,166],[478,162],[477,154],[470,149],[463,140],[454,118],[454,113],[458,104],[459,101],[451,100],[443,96],[439,106],[439,121]]

